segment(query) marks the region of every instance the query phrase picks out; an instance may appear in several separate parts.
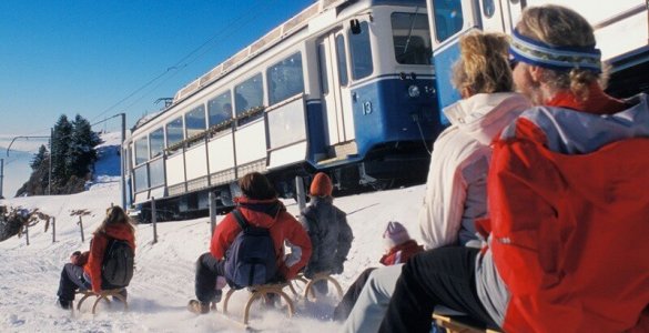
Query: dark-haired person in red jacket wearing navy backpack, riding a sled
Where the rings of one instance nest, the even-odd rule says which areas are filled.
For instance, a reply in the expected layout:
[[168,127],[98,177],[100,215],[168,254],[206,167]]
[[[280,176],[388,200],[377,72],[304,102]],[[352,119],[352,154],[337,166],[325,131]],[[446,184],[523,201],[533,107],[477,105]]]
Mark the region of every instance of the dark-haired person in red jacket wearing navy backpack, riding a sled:
[[[243,196],[236,198],[237,210],[251,225],[268,229],[275,245],[275,258],[278,268],[277,281],[295,278],[306,265],[311,256],[311,241],[306,231],[286,212],[284,204],[277,199],[275,189],[268,179],[252,172],[239,181]],[[210,243],[210,252],[202,254],[196,261],[195,294],[187,310],[194,313],[210,312],[210,303],[221,301],[222,289],[229,284],[225,279],[225,255],[241,228],[233,213],[229,213],[214,229]],[[284,253],[284,242],[292,244],[292,252]]]

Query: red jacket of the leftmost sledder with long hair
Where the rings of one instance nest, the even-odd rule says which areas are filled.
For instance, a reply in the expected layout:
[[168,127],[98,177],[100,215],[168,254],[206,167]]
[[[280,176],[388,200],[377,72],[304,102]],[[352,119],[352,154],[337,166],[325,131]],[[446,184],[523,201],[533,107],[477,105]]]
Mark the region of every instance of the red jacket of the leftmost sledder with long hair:
[[95,233],[90,242],[90,255],[88,262],[83,265],[83,271],[90,276],[92,291],[101,291],[101,265],[109,238],[124,240],[129,243],[133,252],[135,251],[135,235],[126,224],[111,224],[105,229],[105,233]]

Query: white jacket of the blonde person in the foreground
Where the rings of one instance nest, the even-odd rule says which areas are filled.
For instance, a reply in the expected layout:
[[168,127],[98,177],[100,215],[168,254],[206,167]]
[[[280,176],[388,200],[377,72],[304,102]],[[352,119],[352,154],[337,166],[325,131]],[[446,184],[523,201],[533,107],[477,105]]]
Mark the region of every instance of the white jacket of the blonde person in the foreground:
[[487,215],[489,144],[529,107],[523,95],[501,92],[476,94],[444,109],[452,125],[433,145],[426,196],[419,210],[426,249],[464,245],[476,239],[475,220]]

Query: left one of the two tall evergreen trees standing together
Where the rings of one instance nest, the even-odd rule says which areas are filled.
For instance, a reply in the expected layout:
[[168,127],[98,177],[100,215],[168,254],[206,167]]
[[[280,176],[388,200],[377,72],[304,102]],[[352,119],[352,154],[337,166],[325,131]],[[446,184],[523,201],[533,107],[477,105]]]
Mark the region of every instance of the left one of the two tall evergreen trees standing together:
[[[54,124],[52,133],[52,183],[63,186],[71,173],[67,169],[65,160],[68,159],[70,135],[72,134],[72,124],[68,121],[65,114],[61,114]],[[53,191],[52,191],[53,192]]]

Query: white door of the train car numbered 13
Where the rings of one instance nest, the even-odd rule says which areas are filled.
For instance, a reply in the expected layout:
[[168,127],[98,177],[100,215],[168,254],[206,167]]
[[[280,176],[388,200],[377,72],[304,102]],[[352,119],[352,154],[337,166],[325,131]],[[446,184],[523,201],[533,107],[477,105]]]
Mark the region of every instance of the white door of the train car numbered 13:
[[317,42],[321,99],[325,117],[327,147],[354,140],[349,83],[347,73],[346,37],[343,30],[328,33]]

